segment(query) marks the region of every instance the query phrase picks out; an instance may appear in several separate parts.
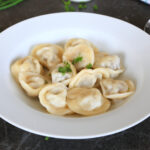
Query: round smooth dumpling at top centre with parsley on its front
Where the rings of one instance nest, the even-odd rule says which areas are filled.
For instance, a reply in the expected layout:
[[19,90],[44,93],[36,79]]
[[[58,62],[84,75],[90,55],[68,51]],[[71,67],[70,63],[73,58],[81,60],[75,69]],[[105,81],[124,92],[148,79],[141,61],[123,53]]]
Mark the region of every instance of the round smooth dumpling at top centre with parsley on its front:
[[76,69],[80,71],[87,65],[94,64],[93,48],[87,44],[79,44],[68,47],[65,49],[63,60],[72,62]]

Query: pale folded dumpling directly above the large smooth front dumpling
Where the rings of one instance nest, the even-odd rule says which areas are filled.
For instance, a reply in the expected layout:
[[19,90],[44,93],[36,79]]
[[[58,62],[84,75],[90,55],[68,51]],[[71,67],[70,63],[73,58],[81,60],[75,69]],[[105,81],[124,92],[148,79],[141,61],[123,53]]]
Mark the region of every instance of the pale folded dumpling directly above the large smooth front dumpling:
[[92,69],[81,70],[69,84],[69,88],[73,87],[86,87],[92,88],[97,80],[97,76]]

